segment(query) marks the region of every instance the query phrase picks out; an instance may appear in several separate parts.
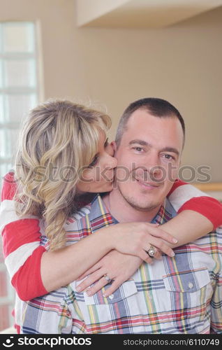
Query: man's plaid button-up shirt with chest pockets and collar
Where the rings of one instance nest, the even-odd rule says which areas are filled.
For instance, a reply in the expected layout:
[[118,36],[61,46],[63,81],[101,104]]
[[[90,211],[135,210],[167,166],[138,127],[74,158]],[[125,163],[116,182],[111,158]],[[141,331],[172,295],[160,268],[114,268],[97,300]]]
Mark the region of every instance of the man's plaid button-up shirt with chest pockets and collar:
[[[175,216],[170,202],[152,222]],[[100,195],[66,224],[68,244],[114,224]],[[68,286],[22,304],[22,333],[222,333],[222,229],[143,262],[110,297],[89,297]]]

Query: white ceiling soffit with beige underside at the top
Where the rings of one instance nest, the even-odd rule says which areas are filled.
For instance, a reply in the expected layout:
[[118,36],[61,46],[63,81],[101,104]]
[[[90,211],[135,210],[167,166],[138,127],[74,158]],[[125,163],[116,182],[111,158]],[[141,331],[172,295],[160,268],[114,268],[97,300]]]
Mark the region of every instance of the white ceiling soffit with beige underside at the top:
[[76,0],[78,27],[158,28],[222,6],[222,0]]

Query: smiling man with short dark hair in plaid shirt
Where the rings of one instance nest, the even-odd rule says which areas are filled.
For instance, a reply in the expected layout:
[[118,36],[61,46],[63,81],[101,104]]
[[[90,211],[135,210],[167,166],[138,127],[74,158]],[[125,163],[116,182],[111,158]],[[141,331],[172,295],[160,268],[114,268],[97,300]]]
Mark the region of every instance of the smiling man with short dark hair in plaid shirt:
[[[128,106],[114,143],[117,186],[94,198],[90,213],[73,224],[71,234],[96,232],[108,223],[170,220],[176,212],[166,196],[177,179],[183,146],[184,120],[174,106],[161,99]],[[222,332],[221,234],[218,229],[181,246],[173,258],[143,262],[109,297],[103,291],[78,292],[80,281],[73,281],[31,300],[24,307],[22,332]]]

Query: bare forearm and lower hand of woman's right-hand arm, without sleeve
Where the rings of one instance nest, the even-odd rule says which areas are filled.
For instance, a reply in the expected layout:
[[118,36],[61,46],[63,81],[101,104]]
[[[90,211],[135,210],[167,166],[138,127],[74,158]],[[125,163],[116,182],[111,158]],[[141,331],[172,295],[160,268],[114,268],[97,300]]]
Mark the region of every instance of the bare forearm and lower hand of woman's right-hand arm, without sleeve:
[[[212,222],[209,221],[208,218],[205,218],[205,216],[202,216],[202,214],[195,211],[184,210],[182,213],[175,216],[175,218],[172,218],[172,220],[161,225],[161,228],[177,238],[178,242],[176,244],[166,242],[166,244],[173,248],[182,246],[183,244],[206,235],[207,232],[212,231],[213,225]],[[87,278],[80,283],[79,291],[87,289],[87,294],[89,295],[98,292],[98,290],[101,290],[101,288],[107,284],[107,281],[103,279],[104,274],[107,274],[110,279],[113,280],[110,287],[107,288],[104,293],[104,296],[108,297],[114,293],[114,290],[121,286],[121,283],[124,283],[124,281],[127,281],[133,276],[141,264],[142,259],[138,258],[138,256],[122,254],[119,253],[119,251],[110,251],[110,253],[105,255],[96,265],[80,276],[80,279],[84,279],[84,277]],[[91,286],[93,283],[95,283],[94,286]],[[91,286],[91,288],[89,288],[89,286]]]

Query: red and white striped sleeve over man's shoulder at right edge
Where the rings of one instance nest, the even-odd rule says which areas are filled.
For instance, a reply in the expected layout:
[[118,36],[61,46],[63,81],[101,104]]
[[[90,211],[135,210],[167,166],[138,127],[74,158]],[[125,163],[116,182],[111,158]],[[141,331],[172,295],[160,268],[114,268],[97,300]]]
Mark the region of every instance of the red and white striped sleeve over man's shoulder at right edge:
[[193,210],[208,218],[214,229],[222,225],[222,204],[188,183],[175,181],[168,199],[177,213]]

